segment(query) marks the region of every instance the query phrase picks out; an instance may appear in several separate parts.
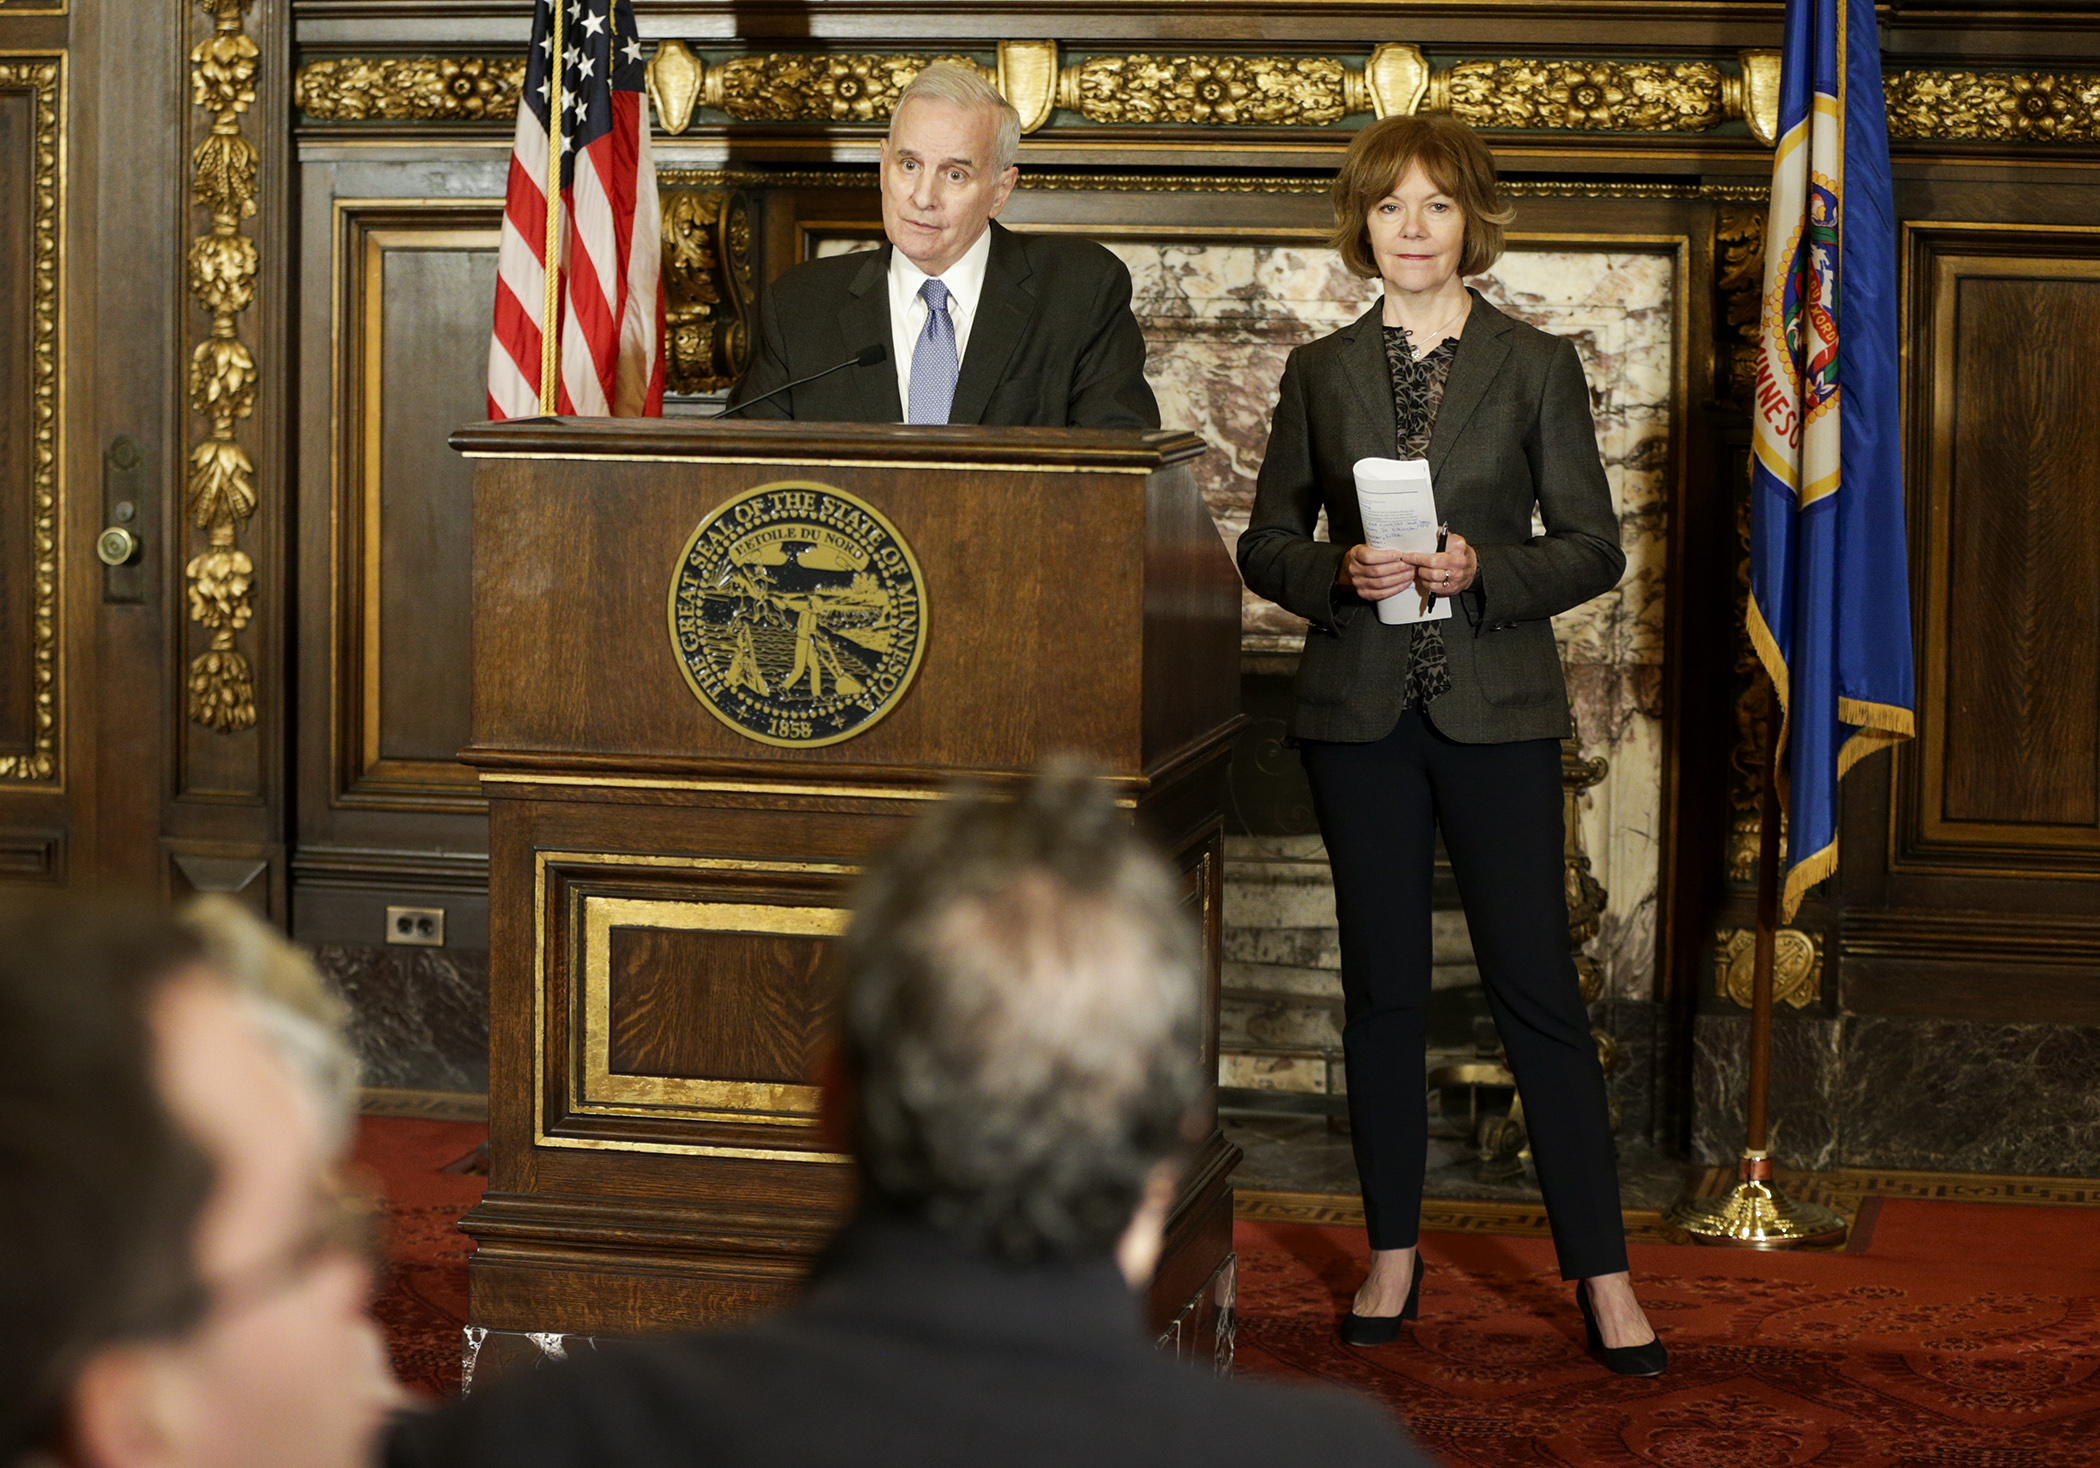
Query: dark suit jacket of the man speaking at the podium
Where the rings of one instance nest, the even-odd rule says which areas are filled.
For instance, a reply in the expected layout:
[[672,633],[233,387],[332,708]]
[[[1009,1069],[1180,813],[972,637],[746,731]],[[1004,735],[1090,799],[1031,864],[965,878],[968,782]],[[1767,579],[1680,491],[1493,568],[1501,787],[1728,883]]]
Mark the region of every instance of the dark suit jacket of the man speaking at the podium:
[[[884,361],[846,368],[764,403],[748,418],[903,422],[890,355],[890,246],[804,260],[758,302],[743,403],[823,372],[863,347]],[[949,422],[1037,428],[1157,428],[1144,384],[1144,336],[1130,315],[1130,271],[1092,239],[1016,235],[991,223],[985,292],[962,357]]]

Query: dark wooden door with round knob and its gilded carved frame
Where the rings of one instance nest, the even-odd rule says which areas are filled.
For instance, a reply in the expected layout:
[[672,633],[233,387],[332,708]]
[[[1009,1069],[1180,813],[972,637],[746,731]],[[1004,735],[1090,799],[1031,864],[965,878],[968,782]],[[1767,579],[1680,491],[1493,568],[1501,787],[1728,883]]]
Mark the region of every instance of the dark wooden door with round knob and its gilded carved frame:
[[277,29],[0,0],[0,880],[281,911]]

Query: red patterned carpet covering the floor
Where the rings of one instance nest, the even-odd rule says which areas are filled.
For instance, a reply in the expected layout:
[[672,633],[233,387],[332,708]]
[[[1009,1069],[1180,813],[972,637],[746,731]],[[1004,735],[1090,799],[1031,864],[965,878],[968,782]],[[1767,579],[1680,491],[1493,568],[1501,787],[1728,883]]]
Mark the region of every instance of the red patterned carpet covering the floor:
[[[443,1172],[485,1128],[365,1119],[386,1193],[374,1306],[412,1386],[460,1386],[468,1241],[483,1178]],[[1672,1348],[1609,1376],[1544,1239],[1424,1235],[1422,1323],[1348,1348],[1334,1321],[1363,1235],[1241,1222],[1239,1369],[1319,1378],[1401,1413],[1466,1468],[2100,1466],[2100,1210],[1886,1199],[1861,1254],[1634,1245]]]

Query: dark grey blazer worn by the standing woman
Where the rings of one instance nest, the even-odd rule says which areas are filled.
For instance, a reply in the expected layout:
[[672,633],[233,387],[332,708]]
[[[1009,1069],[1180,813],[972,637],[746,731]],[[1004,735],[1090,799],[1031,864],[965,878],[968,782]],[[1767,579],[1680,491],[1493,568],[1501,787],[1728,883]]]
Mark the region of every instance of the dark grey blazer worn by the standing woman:
[[[1392,733],[1407,687],[1405,626],[1336,586],[1363,540],[1354,462],[1392,458],[1392,376],[1380,307],[1292,353],[1239,571],[1312,624],[1292,733],[1365,743]],[[1436,512],[1480,557],[1443,622],[1451,691],[1430,722],[1462,743],[1564,739],[1567,683],[1552,617],[1619,584],[1625,554],[1573,342],[1472,298],[1430,431]],[[1321,508],[1329,540],[1312,540]],[[1544,536],[1531,533],[1537,506]],[[1407,594],[1407,592],[1403,592]]]

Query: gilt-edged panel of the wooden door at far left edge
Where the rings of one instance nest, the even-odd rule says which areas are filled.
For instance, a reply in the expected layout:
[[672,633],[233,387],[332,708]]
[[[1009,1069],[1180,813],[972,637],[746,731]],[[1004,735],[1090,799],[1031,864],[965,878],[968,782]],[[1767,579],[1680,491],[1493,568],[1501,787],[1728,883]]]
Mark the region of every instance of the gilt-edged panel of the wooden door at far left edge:
[[0,57],[0,788],[59,779],[57,57]]

